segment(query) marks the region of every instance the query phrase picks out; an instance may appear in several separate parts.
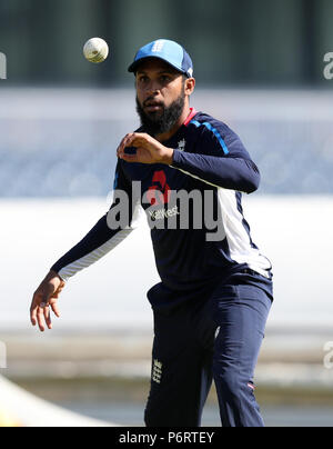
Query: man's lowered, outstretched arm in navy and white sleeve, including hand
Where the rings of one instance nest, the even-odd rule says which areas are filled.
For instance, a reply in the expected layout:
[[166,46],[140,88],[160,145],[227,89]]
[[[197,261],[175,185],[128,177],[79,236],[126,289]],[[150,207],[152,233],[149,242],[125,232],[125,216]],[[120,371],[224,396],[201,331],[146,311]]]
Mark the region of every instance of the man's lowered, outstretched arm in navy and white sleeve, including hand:
[[[127,228],[110,229],[108,214],[105,214],[77,246],[53,265],[46,279],[36,290],[30,308],[31,323],[32,326],[38,323],[41,331],[44,331],[44,322],[49,329],[52,328],[49,307],[59,317],[57,300],[65,286],[65,281],[105,256],[134,229],[137,208],[134,211],[132,210],[132,189],[124,178],[120,161],[115,170],[114,190],[123,190],[129,196],[129,222]],[[110,210],[115,206],[113,201]]]

